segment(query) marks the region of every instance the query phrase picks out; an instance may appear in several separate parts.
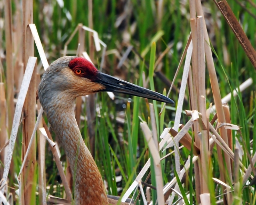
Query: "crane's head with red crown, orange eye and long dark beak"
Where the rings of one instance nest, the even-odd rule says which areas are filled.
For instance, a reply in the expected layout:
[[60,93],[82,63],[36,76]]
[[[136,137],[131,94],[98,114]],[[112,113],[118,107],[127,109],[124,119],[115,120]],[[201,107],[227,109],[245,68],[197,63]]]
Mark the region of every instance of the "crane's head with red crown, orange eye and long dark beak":
[[61,57],[54,61],[42,77],[39,94],[46,82],[50,83],[49,89],[51,91],[63,91],[74,98],[100,91],[111,91],[164,103],[174,103],[170,98],[160,93],[102,73],[91,62],[77,56]]

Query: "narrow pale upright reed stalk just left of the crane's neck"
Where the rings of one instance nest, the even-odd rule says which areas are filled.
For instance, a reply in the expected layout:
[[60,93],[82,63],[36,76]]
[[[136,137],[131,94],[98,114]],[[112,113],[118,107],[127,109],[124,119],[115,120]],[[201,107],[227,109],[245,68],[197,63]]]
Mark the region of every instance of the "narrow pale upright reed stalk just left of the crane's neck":
[[[37,89],[41,79],[40,74],[36,75]],[[37,100],[37,113],[41,109],[39,99]],[[38,148],[38,195],[39,203],[46,205],[46,177],[45,177],[45,138],[39,131],[39,128],[43,127],[43,121],[40,120],[37,129],[37,148]]]

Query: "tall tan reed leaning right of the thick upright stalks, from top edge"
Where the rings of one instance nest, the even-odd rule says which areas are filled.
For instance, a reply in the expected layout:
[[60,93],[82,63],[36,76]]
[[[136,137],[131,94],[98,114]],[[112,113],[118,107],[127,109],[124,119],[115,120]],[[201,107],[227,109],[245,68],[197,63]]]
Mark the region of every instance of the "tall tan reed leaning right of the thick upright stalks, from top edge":
[[[219,84],[218,84],[217,74],[216,74],[215,67],[214,67],[209,36],[207,33],[206,24],[205,24],[205,20],[204,20],[203,9],[202,9],[202,5],[201,5],[201,1],[199,1],[199,0],[196,0],[196,12],[198,15],[203,17],[203,31],[204,31],[204,39],[205,39],[204,49],[205,49],[205,58],[206,58],[206,63],[207,63],[207,69],[208,69],[209,75],[210,75],[211,88],[212,88],[214,103],[215,103],[216,111],[217,111],[217,115],[218,115],[218,123],[223,123],[223,122],[226,122],[226,119],[225,119],[225,114],[223,112],[223,107],[222,107],[222,103],[221,103]],[[219,129],[219,131],[220,131],[220,135],[223,138],[223,140],[226,143],[228,143],[226,129],[224,129],[224,127],[221,127]],[[226,155],[226,153],[225,153],[225,160],[227,163],[227,172],[228,172],[228,175],[225,175],[225,176],[229,177],[229,179],[227,181],[230,181],[232,183],[231,165],[230,165],[229,157]]]

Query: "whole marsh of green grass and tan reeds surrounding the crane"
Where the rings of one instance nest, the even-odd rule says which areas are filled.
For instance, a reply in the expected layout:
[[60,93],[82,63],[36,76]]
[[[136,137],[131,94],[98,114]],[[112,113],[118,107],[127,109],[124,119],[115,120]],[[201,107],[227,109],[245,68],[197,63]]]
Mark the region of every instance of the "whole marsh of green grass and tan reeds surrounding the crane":
[[[102,65],[103,72],[116,75],[139,86],[147,87],[166,95],[166,90],[169,89],[170,84],[165,84],[166,81],[163,81],[163,78],[159,77],[159,72],[162,72],[165,79],[169,80],[169,82],[173,81],[174,84],[170,98],[176,102],[175,106],[165,106],[162,114],[159,116],[158,114],[164,105],[153,101],[155,124],[153,123],[153,118],[150,116],[150,100],[147,99],[116,95],[115,100],[112,100],[107,93],[98,93],[93,98],[95,108],[91,110],[90,115],[88,110],[93,106],[92,104],[87,104],[89,98],[81,98],[77,102],[77,107],[81,109],[76,110],[76,118],[78,122],[80,121],[79,127],[82,136],[86,146],[91,151],[95,150],[93,151],[95,153],[95,161],[103,180],[106,182],[106,191],[108,194],[119,195],[122,198],[135,180],[138,185],[133,187],[134,191],[127,197],[133,197],[135,200],[139,196],[136,204],[143,204],[139,184],[146,182],[153,187],[159,187],[159,180],[157,181],[156,178],[159,177],[159,170],[161,170],[162,173],[160,175],[162,175],[163,184],[166,185],[169,183],[169,185],[164,187],[164,199],[170,204],[172,203],[170,201],[173,201],[173,203],[199,204],[200,202],[203,203],[204,200],[211,201],[211,204],[216,204],[217,202],[222,204],[255,203],[255,185],[244,183],[247,181],[244,173],[246,173],[246,169],[249,168],[250,170],[250,157],[252,158],[252,163],[255,164],[256,162],[256,157],[253,157],[256,151],[256,143],[253,143],[256,140],[255,87],[252,83],[252,86],[243,90],[243,92],[239,90],[239,86],[247,79],[252,78],[252,81],[255,82],[255,69],[251,64],[252,61],[247,57],[247,55],[250,55],[250,52],[244,52],[234,32],[228,27],[225,18],[223,18],[214,2],[204,2],[202,7],[203,13],[200,10],[200,4],[195,5],[195,1],[138,2],[132,0],[127,2],[101,2],[95,0],[92,4],[92,1],[65,0],[63,1],[63,5],[60,4],[61,1],[33,2],[33,7],[31,7],[32,1],[26,2],[30,4],[26,4],[27,7],[24,7],[26,8],[25,11],[22,11],[22,6],[20,6],[22,2],[20,1],[11,2],[6,0],[5,3],[8,4],[4,5],[8,5],[8,7],[5,6],[3,8],[2,6],[0,8],[2,11],[5,9],[5,16],[1,14],[1,18],[5,22],[5,27],[0,32],[0,35],[3,36],[3,40],[0,41],[1,63],[3,64],[3,68],[2,64],[0,66],[0,149],[4,147],[7,141],[6,136],[10,136],[11,134],[11,119],[14,116],[13,110],[15,109],[12,103],[17,102],[15,100],[22,95],[22,93],[19,93],[21,79],[23,78],[20,75],[23,73],[22,63],[26,67],[25,62],[27,62],[28,56],[34,56],[33,54],[35,54],[38,57],[37,66],[34,69],[33,75],[34,87],[32,90],[30,88],[29,91],[30,96],[34,96],[32,97],[33,99],[28,100],[30,103],[33,102],[33,105],[29,107],[31,113],[28,112],[30,124],[27,125],[27,118],[25,116],[23,130],[22,125],[19,126],[13,150],[10,174],[8,176],[9,184],[8,187],[5,186],[5,193],[8,200],[12,193],[16,204],[18,204],[19,200],[21,200],[22,204],[45,204],[46,194],[47,200],[50,201],[56,200],[50,197],[50,195],[54,195],[54,197],[67,199],[62,201],[63,203],[69,204],[71,202],[71,193],[68,192],[67,194],[65,189],[67,191],[68,186],[72,188],[73,184],[66,181],[63,173],[59,174],[58,172],[58,169],[60,170],[63,167],[66,177],[71,177],[68,174],[66,155],[61,148],[61,144],[58,144],[58,139],[53,132],[51,132],[52,139],[60,147],[58,149],[57,146],[55,151],[53,151],[53,155],[60,154],[59,164],[57,163],[58,165],[56,165],[53,160],[53,155],[49,152],[52,148],[47,143],[45,147],[45,162],[42,164],[40,157],[43,155],[42,151],[44,152],[44,144],[40,143],[45,143],[45,141],[42,140],[44,136],[42,136],[41,132],[37,132],[37,140],[33,145],[32,150],[34,151],[31,156],[35,159],[35,164],[33,165],[34,171],[29,175],[30,180],[26,180],[25,178],[22,181],[23,185],[30,187],[28,188],[30,191],[26,192],[27,194],[20,192],[20,198],[13,191],[19,189],[17,185],[18,181],[14,177],[14,174],[18,175],[20,173],[22,160],[26,154],[27,144],[31,136],[30,132],[34,129],[34,125],[32,126],[31,124],[35,124],[35,119],[37,118],[35,115],[36,110],[33,108],[35,107],[36,84],[38,84],[38,77],[35,74],[42,74],[44,69],[47,68],[48,62],[51,63],[54,59],[62,56],[63,53],[74,55],[78,52],[78,55],[84,56],[83,52],[87,52],[96,67],[100,69]],[[240,4],[234,1],[228,3],[245,31],[245,35],[249,38],[252,47],[255,47],[254,25],[256,20]],[[245,2],[243,5],[249,8],[252,13],[256,12],[256,8],[251,6],[252,4],[250,2]],[[92,10],[89,12],[89,8],[91,7]],[[14,32],[12,35],[13,39],[11,39],[14,42],[14,46],[10,46],[11,28],[14,31],[20,31],[20,33],[24,32],[21,31],[20,18],[23,16],[23,18],[27,19],[26,16],[29,9],[33,9],[34,19],[32,22],[35,23],[35,26],[30,24],[28,28],[25,26],[23,28],[27,28],[25,30],[26,35],[30,35],[31,38],[29,37],[27,41],[23,41]],[[161,15],[159,11],[162,12]],[[204,15],[207,31],[203,30],[204,21],[201,22],[201,20],[199,21],[202,24],[199,25],[202,25],[202,27],[201,30],[200,28],[198,30],[196,13],[197,15]],[[12,20],[10,20],[10,16],[12,16]],[[11,22],[11,24],[7,22]],[[32,23],[27,20],[25,22]],[[82,24],[78,25],[78,23]],[[107,50],[103,50],[104,47],[101,46],[101,50],[97,51],[89,32],[81,30],[82,25],[88,27],[93,25],[93,30],[98,32],[99,39],[102,40],[103,44],[107,45]],[[76,28],[78,32],[75,33],[73,38],[68,40]],[[36,30],[38,37],[36,36]],[[187,80],[185,82],[182,80],[183,68],[185,66],[182,63],[181,55],[184,50],[185,54],[187,52],[186,43],[189,39],[190,31],[192,31],[193,55],[190,62],[191,67],[189,68],[188,82]],[[204,38],[207,32],[210,41],[205,42],[201,38],[201,41],[197,42],[200,32],[201,34],[203,33]],[[33,47],[33,39],[35,39],[35,49]],[[42,44],[38,39],[41,40]],[[195,42],[197,42],[196,45],[194,45]],[[78,43],[82,46],[77,51]],[[197,44],[200,44],[200,46],[197,47]],[[133,46],[131,52],[123,64],[117,66],[126,49],[131,45]],[[25,49],[23,59],[20,54],[22,53],[21,48]],[[164,52],[167,48],[170,49],[169,52]],[[161,55],[163,52],[165,55]],[[5,53],[6,55],[4,55]],[[201,58],[198,58],[198,55],[201,55]],[[104,57],[104,61],[102,61],[102,56]],[[157,60],[158,57],[161,58]],[[206,59],[205,75],[203,73],[205,66],[204,58]],[[209,59],[211,58],[212,64],[209,64]],[[157,62],[156,66],[155,62]],[[177,73],[177,79],[173,79],[179,64],[181,65],[181,69]],[[12,73],[12,66],[16,73],[15,75]],[[202,76],[204,79],[199,80],[197,76],[198,71],[196,71],[196,68],[198,66],[203,69],[199,73],[199,77]],[[214,72],[216,72],[217,77],[215,80],[213,78]],[[183,104],[177,105],[180,90],[182,90],[181,84],[185,84],[186,92]],[[14,93],[12,94],[13,88]],[[6,95],[3,89],[5,89]],[[236,97],[233,94],[233,90],[235,89],[237,90]],[[216,94],[217,92],[220,93],[220,96]],[[219,110],[228,109],[227,107],[222,107],[220,97],[223,98],[230,92],[231,99],[228,102],[230,122],[238,125],[239,129],[229,131],[228,128],[230,128],[230,125],[223,126],[226,126],[226,128],[222,127],[218,129],[218,127],[223,123],[223,120],[220,119],[222,112]],[[203,102],[202,95],[204,96]],[[218,119],[214,118],[214,113],[207,111],[211,107],[211,103],[217,106]],[[38,103],[37,106],[39,110]],[[179,122],[176,122],[175,115],[177,115],[178,109],[176,108],[178,106],[181,106],[182,110],[178,111],[181,117]],[[26,109],[25,106],[25,113]],[[190,116],[183,111],[193,109],[198,110],[198,117],[196,116],[197,112],[194,112]],[[9,122],[4,117],[6,115],[8,115]],[[223,111],[222,118],[226,117],[226,122],[228,121],[227,116],[226,113],[224,115]],[[89,122],[89,118],[92,121]],[[213,118],[215,120],[212,124],[215,129],[218,129],[219,134],[214,134],[213,130],[209,133],[209,127],[211,126],[208,122]],[[47,126],[47,118],[45,116],[44,119]],[[159,148],[163,148],[158,153],[160,158],[173,152],[175,149],[176,156],[172,153],[172,155],[162,159],[161,163],[157,163],[160,169],[156,170],[154,167],[155,162],[153,159],[155,156],[153,156],[153,153],[155,152],[154,149],[152,150],[148,147],[147,138],[143,135],[141,129],[141,123],[146,123],[150,130],[154,130],[156,127],[156,134],[153,133],[153,138],[160,143]],[[160,138],[165,132],[166,127],[173,127],[177,123],[185,126],[179,126],[174,141],[177,137],[183,137],[183,135],[181,136],[182,130],[187,129],[186,139],[190,139],[190,150],[186,146],[180,148],[182,146],[181,143],[172,142],[171,135],[168,132],[162,136],[163,138]],[[187,127],[188,123],[193,125]],[[39,127],[42,125],[43,122]],[[26,126],[30,127],[30,131],[26,129]],[[88,132],[88,130],[92,129],[93,132]],[[25,134],[25,131],[28,133]],[[198,134],[197,131],[201,133]],[[90,138],[92,133],[94,133],[94,147],[90,146],[93,142]],[[209,141],[212,133],[217,137],[216,140],[214,138],[214,142],[213,139]],[[223,138],[224,136],[227,136],[227,138],[224,138],[222,141],[221,137]],[[184,140],[184,138],[182,139]],[[166,140],[165,143],[163,143],[164,139]],[[167,144],[170,143],[173,143],[173,146],[165,149]],[[201,151],[201,156],[199,157],[194,155],[194,144]],[[157,144],[156,148],[158,149]],[[6,149],[0,153],[2,160],[1,177],[3,175],[3,158],[6,156]],[[38,150],[38,152],[35,150]],[[57,154],[58,152],[59,154]],[[230,161],[230,158],[233,160]],[[44,158],[42,159],[44,160]],[[142,172],[141,170],[144,170],[143,167],[147,164],[148,160],[150,169],[145,169],[143,175],[139,175]],[[27,169],[31,172],[31,166],[27,167]],[[28,175],[23,174],[22,176]],[[221,182],[213,180],[213,177]],[[253,172],[247,174],[246,177],[250,177],[252,180],[254,177]],[[148,188],[146,183],[140,186],[140,188],[143,187],[144,194],[142,195],[146,195],[147,200],[152,200],[151,204],[155,204],[159,192],[163,192],[163,190]],[[63,185],[65,189],[63,189]],[[146,194],[146,189],[150,191],[150,194]],[[70,190],[74,194],[74,190]],[[119,201],[121,201],[121,198]],[[9,201],[11,202],[11,200]],[[28,202],[26,203],[25,201]]]

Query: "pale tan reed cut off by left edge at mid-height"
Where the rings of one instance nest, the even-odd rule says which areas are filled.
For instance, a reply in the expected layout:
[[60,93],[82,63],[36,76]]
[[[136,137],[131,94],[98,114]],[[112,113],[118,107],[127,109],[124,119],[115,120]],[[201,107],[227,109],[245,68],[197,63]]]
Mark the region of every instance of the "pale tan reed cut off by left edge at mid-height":
[[[5,98],[5,90],[4,83],[0,82],[0,149],[2,150],[6,142],[8,141],[7,135],[7,108],[6,108],[6,98]],[[4,149],[0,153],[0,160],[3,164],[5,164],[5,154],[7,149]],[[0,178],[3,177],[4,168],[1,165],[0,168]]]

